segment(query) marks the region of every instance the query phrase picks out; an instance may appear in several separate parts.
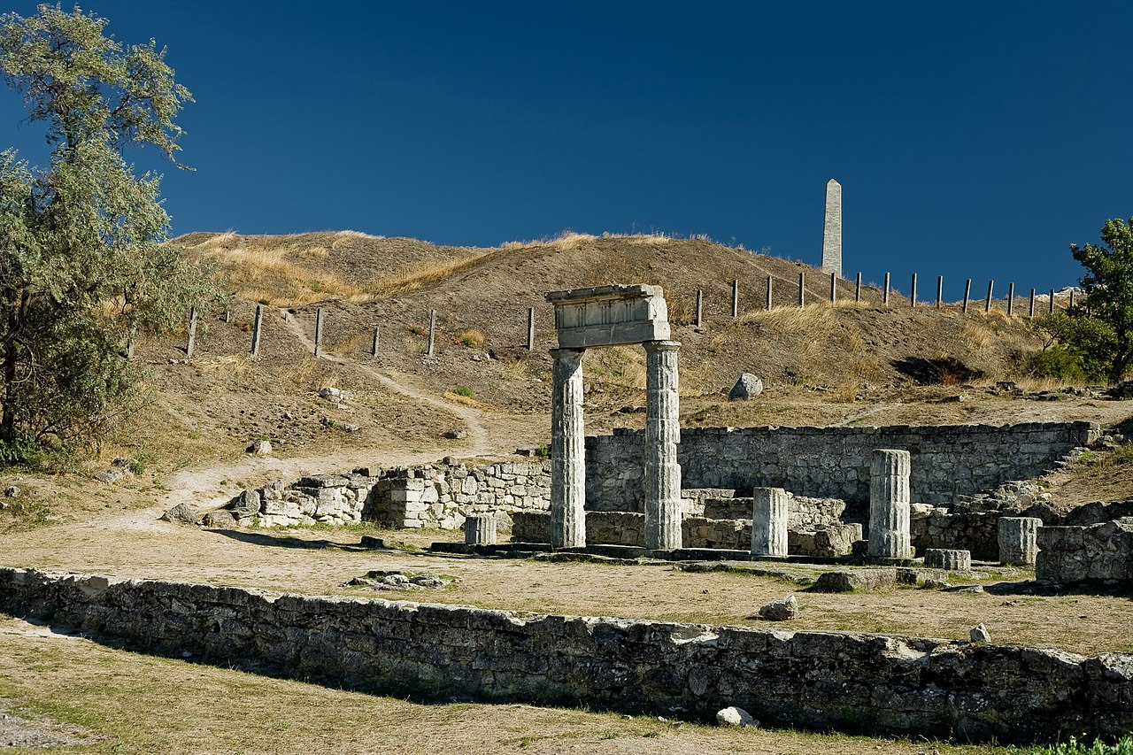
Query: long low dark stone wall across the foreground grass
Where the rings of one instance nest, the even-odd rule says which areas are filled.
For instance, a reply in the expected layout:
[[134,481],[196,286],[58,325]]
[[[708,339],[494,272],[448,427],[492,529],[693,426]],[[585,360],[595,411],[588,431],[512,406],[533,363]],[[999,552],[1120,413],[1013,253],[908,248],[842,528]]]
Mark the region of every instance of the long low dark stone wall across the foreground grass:
[[0,569],[0,608],[218,664],[437,699],[960,740],[1133,730],[1133,656],[488,611]]

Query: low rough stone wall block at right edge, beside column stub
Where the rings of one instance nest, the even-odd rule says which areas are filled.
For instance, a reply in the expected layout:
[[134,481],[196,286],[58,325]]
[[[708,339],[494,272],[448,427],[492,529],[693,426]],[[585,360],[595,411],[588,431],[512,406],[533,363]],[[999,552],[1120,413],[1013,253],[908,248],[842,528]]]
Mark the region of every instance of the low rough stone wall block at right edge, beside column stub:
[[1038,579],[1133,580],[1133,517],[1085,527],[1039,527]]

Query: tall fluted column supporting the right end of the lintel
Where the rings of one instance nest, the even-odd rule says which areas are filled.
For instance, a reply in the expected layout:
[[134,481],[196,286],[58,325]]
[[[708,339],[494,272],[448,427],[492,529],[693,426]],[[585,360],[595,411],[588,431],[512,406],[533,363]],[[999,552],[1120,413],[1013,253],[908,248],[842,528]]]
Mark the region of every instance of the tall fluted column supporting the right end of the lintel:
[[681,548],[681,442],[675,341],[645,341],[645,546]]

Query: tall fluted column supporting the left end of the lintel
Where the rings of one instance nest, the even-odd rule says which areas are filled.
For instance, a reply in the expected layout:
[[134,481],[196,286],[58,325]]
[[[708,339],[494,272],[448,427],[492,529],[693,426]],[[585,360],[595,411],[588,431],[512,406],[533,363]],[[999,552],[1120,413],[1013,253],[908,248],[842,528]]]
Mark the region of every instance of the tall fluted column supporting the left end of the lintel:
[[551,349],[551,546],[586,546],[583,349]]

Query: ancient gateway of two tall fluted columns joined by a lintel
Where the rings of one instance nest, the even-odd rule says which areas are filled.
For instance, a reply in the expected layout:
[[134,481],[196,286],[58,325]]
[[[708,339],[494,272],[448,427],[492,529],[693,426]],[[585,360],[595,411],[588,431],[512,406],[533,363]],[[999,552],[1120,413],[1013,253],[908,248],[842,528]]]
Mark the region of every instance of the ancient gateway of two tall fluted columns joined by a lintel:
[[649,550],[681,548],[681,440],[676,353],[658,286],[597,286],[552,291],[559,348],[551,399],[551,544],[586,546],[586,438],[582,354],[640,343],[646,351],[645,534]]

